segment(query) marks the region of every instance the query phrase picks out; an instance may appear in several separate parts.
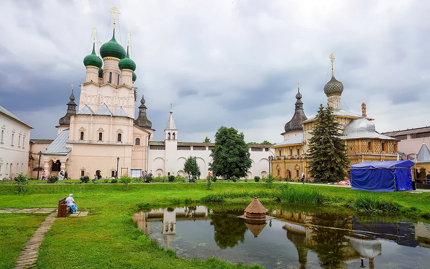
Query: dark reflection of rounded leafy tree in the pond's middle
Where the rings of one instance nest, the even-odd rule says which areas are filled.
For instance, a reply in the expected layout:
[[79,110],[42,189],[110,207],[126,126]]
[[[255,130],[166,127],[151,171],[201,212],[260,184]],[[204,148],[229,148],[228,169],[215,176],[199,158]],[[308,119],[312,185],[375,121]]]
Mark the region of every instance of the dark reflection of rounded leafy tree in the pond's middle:
[[214,226],[215,243],[219,248],[234,247],[245,240],[245,233],[248,228],[242,219],[236,217],[241,213],[243,210],[230,210],[222,213],[214,211],[209,214],[210,224]]

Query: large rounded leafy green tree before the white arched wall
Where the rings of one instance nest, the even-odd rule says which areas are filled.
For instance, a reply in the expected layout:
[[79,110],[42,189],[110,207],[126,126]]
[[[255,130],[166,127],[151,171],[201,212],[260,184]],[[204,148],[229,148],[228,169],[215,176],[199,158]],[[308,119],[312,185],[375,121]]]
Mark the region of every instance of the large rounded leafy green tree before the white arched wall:
[[209,155],[212,157],[209,170],[229,180],[247,176],[252,161],[244,138],[243,132],[238,133],[233,127],[219,127],[215,133],[215,147]]

